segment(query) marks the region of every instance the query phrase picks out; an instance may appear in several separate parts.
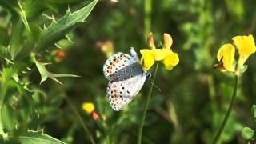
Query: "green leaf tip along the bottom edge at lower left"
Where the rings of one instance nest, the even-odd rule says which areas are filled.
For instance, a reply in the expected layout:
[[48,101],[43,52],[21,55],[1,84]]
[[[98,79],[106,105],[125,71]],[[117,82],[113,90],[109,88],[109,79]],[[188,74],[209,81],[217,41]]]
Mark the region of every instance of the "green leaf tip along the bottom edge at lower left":
[[29,130],[26,134],[19,136],[18,140],[22,144],[37,143],[37,144],[58,144],[65,143],[50,135],[43,134],[42,132]]

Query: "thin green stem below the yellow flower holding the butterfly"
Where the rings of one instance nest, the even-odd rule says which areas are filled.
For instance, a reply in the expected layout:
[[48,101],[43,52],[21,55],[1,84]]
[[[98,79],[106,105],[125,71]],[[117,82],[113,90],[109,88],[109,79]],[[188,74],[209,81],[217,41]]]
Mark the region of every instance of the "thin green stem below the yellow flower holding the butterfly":
[[155,78],[155,76],[157,75],[157,71],[158,71],[158,64],[159,64],[159,63],[157,63],[157,66],[156,66],[155,69],[154,69],[153,81],[152,81],[152,84],[151,84],[151,86],[150,86],[149,94],[148,94],[147,97],[146,97],[146,103],[145,103],[145,105],[144,105],[144,109],[143,109],[143,111],[142,111],[141,124],[140,124],[139,129],[138,129],[137,144],[141,144],[141,142],[142,142],[142,130],[143,130],[143,126],[144,126],[144,122],[145,122],[145,118],[146,118],[146,110],[147,110],[147,107],[149,106],[149,103],[150,103],[150,98],[151,98],[151,94],[152,94],[152,90],[153,90],[153,86],[154,86],[154,78]]

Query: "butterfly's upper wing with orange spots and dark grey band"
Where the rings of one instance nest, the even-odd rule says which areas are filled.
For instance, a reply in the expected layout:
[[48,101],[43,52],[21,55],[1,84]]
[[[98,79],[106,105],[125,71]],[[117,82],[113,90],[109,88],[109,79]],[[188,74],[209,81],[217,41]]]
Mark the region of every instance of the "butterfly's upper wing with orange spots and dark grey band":
[[118,53],[108,58],[103,73],[109,80],[120,81],[129,78],[130,73],[141,74],[141,67],[136,52],[131,48],[130,54]]

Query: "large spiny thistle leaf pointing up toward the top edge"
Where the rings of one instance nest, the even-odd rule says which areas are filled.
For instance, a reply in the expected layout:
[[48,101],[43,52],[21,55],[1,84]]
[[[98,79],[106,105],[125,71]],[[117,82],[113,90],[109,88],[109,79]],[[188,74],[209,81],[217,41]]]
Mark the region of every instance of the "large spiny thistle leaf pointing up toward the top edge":
[[98,0],[94,0],[74,13],[67,10],[67,13],[62,18],[58,19],[58,21],[53,20],[50,26],[42,30],[42,34],[39,37],[40,41],[34,47],[34,50],[41,50],[42,48],[53,46],[55,42],[64,38],[65,35],[69,33],[70,30],[73,30],[74,27],[78,26],[79,23],[85,22],[85,19],[97,2]]

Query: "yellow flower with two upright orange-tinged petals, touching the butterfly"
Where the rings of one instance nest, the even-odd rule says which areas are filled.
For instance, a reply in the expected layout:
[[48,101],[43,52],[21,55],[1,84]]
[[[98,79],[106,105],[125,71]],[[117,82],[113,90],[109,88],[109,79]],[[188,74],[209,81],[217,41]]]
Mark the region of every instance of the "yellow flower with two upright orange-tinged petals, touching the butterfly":
[[169,34],[163,34],[162,49],[155,48],[152,33],[149,34],[147,40],[150,49],[140,50],[142,54],[141,63],[144,71],[149,70],[150,67],[153,66],[154,62],[156,61],[162,61],[162,63],[166,66],[167,70],[172,70],[173,67],[178,64],[178,54],[170,50],[170,46],[172,45],[173,40]]

